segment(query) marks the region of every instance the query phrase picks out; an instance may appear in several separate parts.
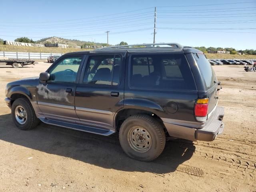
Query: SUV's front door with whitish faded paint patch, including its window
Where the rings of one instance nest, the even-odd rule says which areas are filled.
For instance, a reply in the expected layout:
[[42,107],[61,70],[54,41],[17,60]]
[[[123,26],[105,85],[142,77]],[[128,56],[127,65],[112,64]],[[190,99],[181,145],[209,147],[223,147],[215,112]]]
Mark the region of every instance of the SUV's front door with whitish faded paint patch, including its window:
[[37,86],[37,102],[44,116],[78,120],[74,99],[83,57],[75,55],[62,58],[47,71],[50,79]]

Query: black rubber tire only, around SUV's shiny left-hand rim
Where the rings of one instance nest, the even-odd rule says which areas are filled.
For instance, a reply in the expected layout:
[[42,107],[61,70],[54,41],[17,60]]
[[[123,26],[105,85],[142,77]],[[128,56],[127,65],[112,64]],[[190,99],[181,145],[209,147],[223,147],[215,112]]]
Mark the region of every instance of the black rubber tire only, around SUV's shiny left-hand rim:
[[[26,111],[26,122],[20,124],[15,117],[15,109],[17,106],[22,106]],[[21,130],[30,130],[38,125],[39,119],[36,117],[34,109],[27,98],[16,99],[12,104],[12,120],[14,124]]]

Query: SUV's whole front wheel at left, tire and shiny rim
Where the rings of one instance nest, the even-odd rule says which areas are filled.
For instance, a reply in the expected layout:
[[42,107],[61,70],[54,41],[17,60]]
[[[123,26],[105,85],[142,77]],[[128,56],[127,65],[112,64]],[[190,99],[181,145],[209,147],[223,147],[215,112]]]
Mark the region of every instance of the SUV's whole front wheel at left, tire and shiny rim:
[[19,98],[13,102],[12,120],[21,130],[35,128],[39,122],[34,109],[26,98]]

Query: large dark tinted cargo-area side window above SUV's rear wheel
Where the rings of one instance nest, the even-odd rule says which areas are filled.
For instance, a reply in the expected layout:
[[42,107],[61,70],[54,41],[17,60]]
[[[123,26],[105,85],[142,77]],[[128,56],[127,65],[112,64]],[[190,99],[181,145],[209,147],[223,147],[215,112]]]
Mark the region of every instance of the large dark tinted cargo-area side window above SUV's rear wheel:
[[131,87],[196,90],[184,54],[132,55],[130,62]]

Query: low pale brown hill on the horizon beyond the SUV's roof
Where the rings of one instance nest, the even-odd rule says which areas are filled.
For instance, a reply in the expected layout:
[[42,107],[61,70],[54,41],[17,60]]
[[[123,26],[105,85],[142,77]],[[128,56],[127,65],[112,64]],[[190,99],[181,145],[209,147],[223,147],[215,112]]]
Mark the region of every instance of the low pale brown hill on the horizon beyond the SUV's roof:
[[102,45],[104,43],[94,43],[94,42],[88,42],[88,41],[80,41],[76,39],[65,39],[60,37],[48,37],[43,38],[38,41],[36,41],[37,44],[54,44],[54,43],[60,43],[60,44],[68,44],[70,46],[82,46],[84,44],[86,45]]

